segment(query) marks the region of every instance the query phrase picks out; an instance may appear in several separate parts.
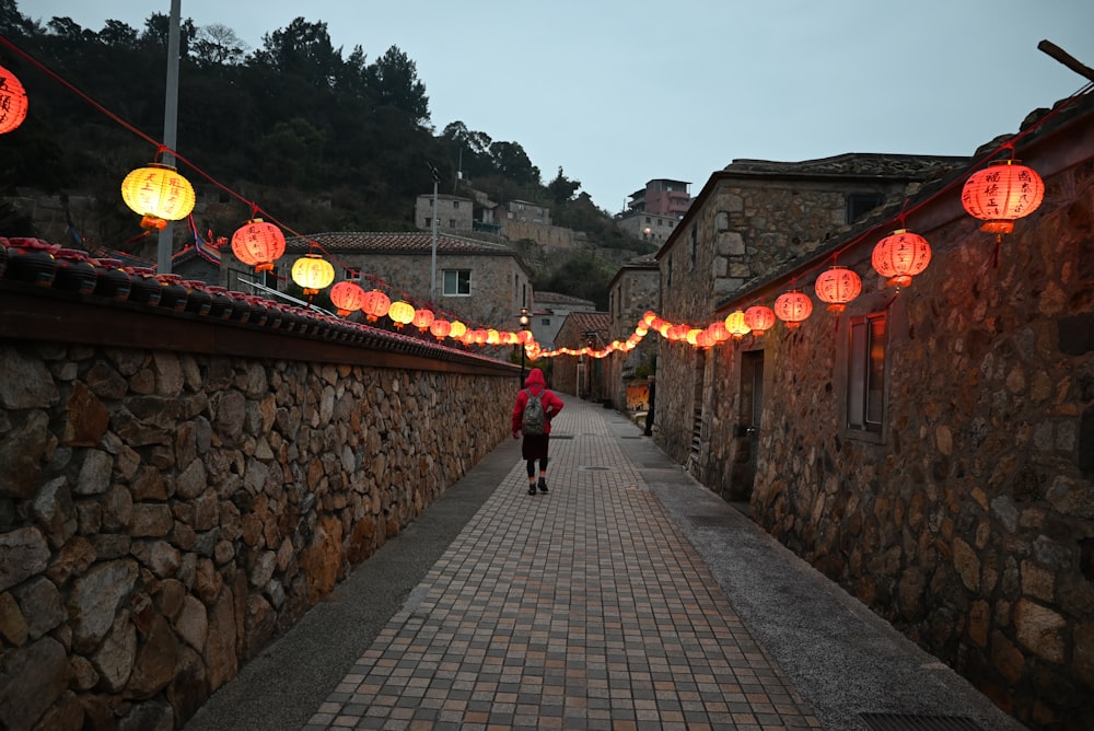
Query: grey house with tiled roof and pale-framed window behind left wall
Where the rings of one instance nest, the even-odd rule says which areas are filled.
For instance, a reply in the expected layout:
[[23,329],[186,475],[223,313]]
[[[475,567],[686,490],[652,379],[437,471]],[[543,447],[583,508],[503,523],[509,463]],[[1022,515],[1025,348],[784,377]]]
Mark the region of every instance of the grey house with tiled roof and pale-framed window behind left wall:
[[[517,327],[521,308],[531,308],[532,274],[516,253],[503,244],[441,234],[437,242],[437,267],[432,266],[432,234],[415,233],[317,233],[287,241],[286,255],[275,277],[281,288],[298,258],[313,250],[335,265],[335,281],[360,274],[368,289],[370,278],[388,286],[388,297],[412,298],[451,312],[466,324]],[[249,267],[226,255],[228,286],[246,289],[254,279]],[[242,279],[241,279],[242,278]],[[435,282],[435,299],[430,289]]]

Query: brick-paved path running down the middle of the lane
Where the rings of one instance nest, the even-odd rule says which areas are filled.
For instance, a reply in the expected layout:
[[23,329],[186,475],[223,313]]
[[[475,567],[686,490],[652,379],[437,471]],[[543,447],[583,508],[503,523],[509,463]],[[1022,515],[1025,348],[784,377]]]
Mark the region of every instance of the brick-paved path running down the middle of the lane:
[[603,417],[552,429],[305,729],[819,729]]

